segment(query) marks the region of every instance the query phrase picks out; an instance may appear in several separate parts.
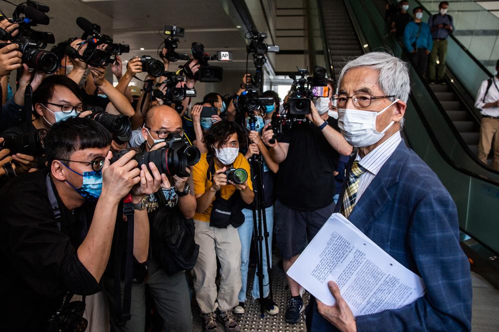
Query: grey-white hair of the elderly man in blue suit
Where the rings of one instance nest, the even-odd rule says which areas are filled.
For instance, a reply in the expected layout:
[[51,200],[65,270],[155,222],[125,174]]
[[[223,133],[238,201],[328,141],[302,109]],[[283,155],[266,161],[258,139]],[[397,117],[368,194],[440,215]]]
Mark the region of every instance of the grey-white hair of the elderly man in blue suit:
[[[343,76],[353,68],[367,67],[376,70],[378,85],[387,96],[395,96],[407,103],[411,91],[409,80],[409,64],[386,52],[369,52],[350,60],[341,69],[338,87],[341,85]],[[393,99],[393,98],[391,98]],[[404,118],[399,122],[400,129],[404,127]]]

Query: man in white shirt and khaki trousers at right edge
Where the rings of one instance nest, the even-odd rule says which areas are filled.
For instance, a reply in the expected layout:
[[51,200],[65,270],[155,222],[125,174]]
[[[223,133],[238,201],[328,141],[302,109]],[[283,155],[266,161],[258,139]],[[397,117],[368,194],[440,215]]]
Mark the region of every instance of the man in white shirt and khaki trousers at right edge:
[[[499,72],[499,60],[496,63],[496,71]],[[478,159],[484,164],[487,157],[494,149],[494,160],[492,168],[499,170],[499,75],[485,80],[478,90],[475,107],[482,110],[482,121],[480,122],[480,142],[478,144]],[[494,141],[494,147],[492,143]]]

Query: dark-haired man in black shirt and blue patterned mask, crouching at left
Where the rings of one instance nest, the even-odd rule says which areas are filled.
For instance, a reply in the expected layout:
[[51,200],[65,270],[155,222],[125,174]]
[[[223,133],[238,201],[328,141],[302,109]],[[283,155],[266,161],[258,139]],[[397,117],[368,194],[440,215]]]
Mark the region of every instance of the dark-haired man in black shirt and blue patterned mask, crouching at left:
[[[130,193],[137,204],[161,182],[156,167],[152,175],[137,168],[135,152],[110,164],[110,144],[92,119],[57,122],[45,137],[48,167],[2,188],[1,331],[47,331],[67,293],[100,290],[115,226],[123,222],[120,201]],[[134,219],[133,255],[141,263],[149,250],[147,211],[135,210]]]

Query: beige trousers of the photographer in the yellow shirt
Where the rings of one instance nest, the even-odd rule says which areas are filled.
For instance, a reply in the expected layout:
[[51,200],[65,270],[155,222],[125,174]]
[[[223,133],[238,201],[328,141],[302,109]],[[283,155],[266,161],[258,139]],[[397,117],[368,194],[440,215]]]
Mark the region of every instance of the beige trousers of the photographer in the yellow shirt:
[[[195,240],[199,256],[194,266],[194,289],[201,313],[208,314],[217,308],[232,310],[241,290],[241,240],[236,228],[211,227],[209,222],[194,220]],[[217,292],[217,257],[220,261],[220,288]]]

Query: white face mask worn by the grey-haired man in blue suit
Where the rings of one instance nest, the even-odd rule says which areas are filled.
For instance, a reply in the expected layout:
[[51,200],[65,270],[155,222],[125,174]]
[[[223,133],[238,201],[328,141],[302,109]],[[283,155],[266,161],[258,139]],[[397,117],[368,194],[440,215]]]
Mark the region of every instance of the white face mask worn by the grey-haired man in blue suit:
[[341,129],[341,134],[351,146],[355,148],[369,147],[378,143],[385,132],[395,123],[390,122],[381,132],[376,131],[376,117],[385,112],[390,106],[395,104],[399,99],[393,101],[390,105],[382,109],[380,112],[370,112],[361,110],[352,110],[339,108],[338,109],[338,127]]

